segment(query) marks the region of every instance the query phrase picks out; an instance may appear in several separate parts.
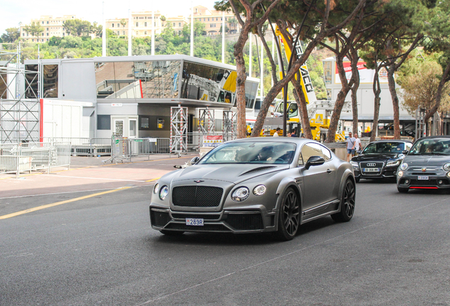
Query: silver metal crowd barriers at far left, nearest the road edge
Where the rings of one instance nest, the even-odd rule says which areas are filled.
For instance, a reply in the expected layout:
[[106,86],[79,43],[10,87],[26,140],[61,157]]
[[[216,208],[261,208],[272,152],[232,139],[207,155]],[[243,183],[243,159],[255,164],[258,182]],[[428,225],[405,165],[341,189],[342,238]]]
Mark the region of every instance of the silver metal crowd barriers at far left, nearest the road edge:
[[16,174],[70,166],[70,142],[28,142],[0,145],[0,174]]

